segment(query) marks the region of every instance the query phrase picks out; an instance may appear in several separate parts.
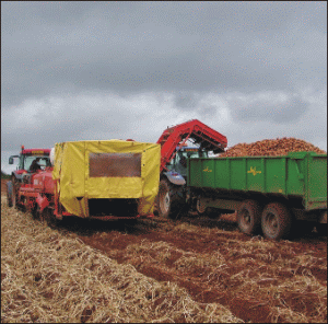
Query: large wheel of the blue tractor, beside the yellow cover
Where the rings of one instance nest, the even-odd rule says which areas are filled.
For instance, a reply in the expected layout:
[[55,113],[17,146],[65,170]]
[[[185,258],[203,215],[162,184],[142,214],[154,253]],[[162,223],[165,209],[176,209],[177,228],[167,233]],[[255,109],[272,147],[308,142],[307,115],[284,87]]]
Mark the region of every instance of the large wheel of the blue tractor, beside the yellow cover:
[[160,217],[176,219],[185,208],[183,186],[177,186],[163,178],[157,195],[157,212]]

